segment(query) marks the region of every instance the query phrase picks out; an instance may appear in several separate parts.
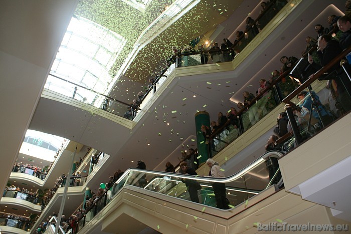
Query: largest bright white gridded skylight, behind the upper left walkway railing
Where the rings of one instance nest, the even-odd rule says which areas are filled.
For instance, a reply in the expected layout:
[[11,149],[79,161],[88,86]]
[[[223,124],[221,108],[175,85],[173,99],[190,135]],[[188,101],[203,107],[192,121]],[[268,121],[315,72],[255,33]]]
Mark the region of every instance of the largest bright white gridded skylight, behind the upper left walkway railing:
[[[109,74],[126,40],[120,35],[84,19],[74,16],[62,40],[50,73],[106,94],[113,82]],[[100,106],[101,100],[93,92],[75,90],[74,85],[49,76],[45,88],[66,96]],[[97,100],[98,99],[98,100]]]

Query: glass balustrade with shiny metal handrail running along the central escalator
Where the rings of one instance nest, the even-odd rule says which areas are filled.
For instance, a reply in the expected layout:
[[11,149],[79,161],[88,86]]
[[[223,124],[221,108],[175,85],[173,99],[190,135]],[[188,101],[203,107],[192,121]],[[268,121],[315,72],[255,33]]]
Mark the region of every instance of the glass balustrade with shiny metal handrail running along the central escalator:
[[[229,207],[233,208],[272,184],[279,183],[281,186],[279,168],[275,168],[274,171],[270,170],[267,162],[270,158],[279,158],[282,155],[283,153],[279,151],[265,153],[243,170],[225,178],[128,169],[110,189],[106,189],[104,194],[93,204],[89,204],[79,220],[78,226],[81,228],[89,222],[106,204],[115,199],[116,194],[125,186],[135,186],[158,194],[216,207],[216,195],[213,187],[216,184],[225,184],[226,198],[229,201]],[[192,187],[196,188],[195,196],[197,198],[194,197]]]

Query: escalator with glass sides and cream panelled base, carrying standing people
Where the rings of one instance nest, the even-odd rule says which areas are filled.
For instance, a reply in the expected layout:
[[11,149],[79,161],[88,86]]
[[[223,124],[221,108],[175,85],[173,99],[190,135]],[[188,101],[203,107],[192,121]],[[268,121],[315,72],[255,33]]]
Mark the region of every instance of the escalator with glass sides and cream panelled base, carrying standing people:
[[[92,233],[98,225],[104,233],[138,233],[147,227],[162,233],[180,233],[180,228],[190,233],[232,233],[229,230],[237,214],[277,191],[285,193],[277,184],[272,184],[281,181],[279,170],[270,176],[266,168],[269,158],[282,155],[279,151],[270,151],[238,173],[221,179],[128,169],[112,187],[105,207],[96,214],[92,213],[93,209],[88,211],[80,221],[78,232]],[[201,185],[200,203],[190,200],[185,180]],[[212,188],[216,182],[225,183],[228,210],[216,208]]]

